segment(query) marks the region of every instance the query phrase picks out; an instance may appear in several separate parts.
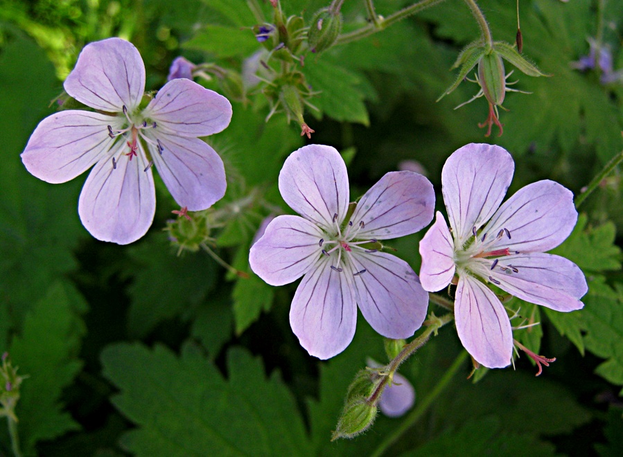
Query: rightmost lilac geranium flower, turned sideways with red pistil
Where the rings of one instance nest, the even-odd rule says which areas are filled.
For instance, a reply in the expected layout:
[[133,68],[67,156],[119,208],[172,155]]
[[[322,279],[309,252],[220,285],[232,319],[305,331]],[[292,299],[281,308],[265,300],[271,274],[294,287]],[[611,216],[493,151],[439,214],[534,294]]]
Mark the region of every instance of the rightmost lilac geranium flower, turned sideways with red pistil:
[[452,235],[437,213],[420,242],[422,286],[435,292],[456,284],[458,276],[459,339],[489,368],[510,364],[513,335],[504,306],[486,283],[563,312],[583,307],[579,298],[588,290],[577,265],[543,253],[561,244],[575,226],[572,193],[554,181],[538,181],[500,206],[514,168],[511,155],[499,146],[469,144],[454,152],[441,172]]

